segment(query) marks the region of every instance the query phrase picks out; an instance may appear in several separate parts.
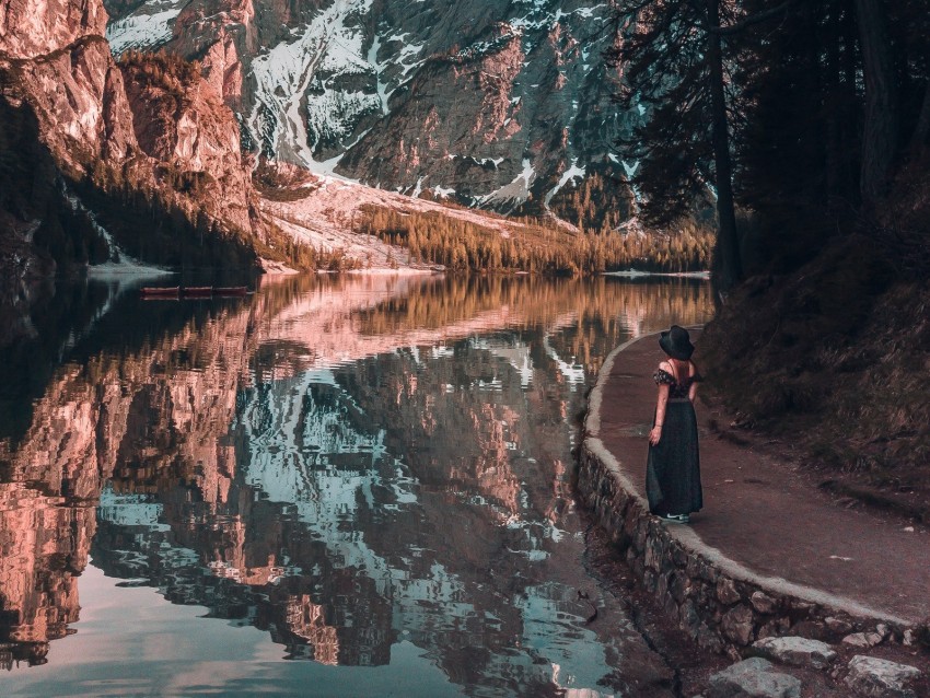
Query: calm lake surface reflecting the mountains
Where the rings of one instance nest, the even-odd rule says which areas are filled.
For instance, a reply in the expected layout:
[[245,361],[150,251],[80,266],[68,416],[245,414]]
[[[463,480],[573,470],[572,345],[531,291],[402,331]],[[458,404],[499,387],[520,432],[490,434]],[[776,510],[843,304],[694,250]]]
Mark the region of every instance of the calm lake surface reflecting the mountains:
[[585,572],[571,449],[606,354],[711,305],[603,278],[59,288],[0,350],[0,694],[663,695]]

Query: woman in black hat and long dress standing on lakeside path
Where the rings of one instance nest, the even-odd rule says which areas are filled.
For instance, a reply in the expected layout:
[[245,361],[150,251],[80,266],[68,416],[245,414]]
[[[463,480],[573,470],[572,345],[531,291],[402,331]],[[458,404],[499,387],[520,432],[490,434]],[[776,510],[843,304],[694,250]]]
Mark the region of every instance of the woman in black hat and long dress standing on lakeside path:
[[694,400],[700,374],[691,363],[688,330],[672,325],[659,337],[667,359],[652,375],[659,400],[646,466],[649,510],[671,523],[688,523],[688,514],[704,504],[700,489],[697,418]]

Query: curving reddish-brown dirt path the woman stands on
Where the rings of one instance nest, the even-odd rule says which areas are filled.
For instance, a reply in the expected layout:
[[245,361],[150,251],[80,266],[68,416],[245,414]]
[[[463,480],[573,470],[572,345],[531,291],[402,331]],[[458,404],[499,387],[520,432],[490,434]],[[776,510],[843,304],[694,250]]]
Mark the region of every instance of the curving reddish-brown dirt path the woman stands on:
[[[699,333],[695,360],[700,363]],[[643,493],[655,404],[656,336],[627,346],[604,383],[600,438]],[[697,405],[705,509],[675,536],[764,585],[855,616],[914,625],[930,616],[930,532],[891,513],[850,510],[798,467],[721,434],[725,416]]]

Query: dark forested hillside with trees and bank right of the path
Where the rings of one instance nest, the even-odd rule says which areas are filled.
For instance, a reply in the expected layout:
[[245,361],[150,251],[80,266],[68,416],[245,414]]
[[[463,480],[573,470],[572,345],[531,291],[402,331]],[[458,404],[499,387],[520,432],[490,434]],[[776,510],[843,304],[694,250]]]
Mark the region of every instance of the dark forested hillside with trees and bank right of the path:
[[713,389],[832,486],[926,515],[928,3],[621,4],[643,217],[717,194]]

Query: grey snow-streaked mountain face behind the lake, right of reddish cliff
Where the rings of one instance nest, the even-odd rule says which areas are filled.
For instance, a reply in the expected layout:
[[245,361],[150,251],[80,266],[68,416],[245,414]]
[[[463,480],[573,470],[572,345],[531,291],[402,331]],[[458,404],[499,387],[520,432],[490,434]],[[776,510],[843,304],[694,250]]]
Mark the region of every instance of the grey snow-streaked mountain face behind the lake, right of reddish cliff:
[[105,1],[114,53],[200,61],[255,152],[500,210],[560,210],[596,175],[627,212],[609,2]]

